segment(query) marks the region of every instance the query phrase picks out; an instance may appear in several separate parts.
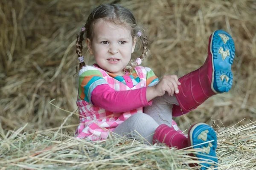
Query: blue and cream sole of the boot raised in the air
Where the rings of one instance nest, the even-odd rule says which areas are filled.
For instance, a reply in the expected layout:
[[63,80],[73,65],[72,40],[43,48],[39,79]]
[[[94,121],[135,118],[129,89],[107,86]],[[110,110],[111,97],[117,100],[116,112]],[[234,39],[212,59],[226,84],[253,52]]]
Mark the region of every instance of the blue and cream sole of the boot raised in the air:
[[228,92],[233,85],[231,65],[235,58],[235,44],[230,34],[222,30],[213,32],[210,52],[212,54],[212,91]]

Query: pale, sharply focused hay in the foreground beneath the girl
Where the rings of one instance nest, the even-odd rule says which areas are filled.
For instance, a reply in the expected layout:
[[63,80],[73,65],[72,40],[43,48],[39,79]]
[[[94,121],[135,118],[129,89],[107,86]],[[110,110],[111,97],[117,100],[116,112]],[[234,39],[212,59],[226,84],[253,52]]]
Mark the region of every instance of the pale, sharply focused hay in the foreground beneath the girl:
[[[125,137],[117,139],[115,136],[106,141],[87,142],[58,133],[61,128],[33,130],[29,133],[23,132],[25,127],[5,133],[0,126],[1,170],[196,169],[204,162],[188,155],[202,151],[198,149],[169,149],[161,144],[145,145]],[[239,127],[218,128],[217,136],[219,170],[256,170],[256,122]],[[188,165],[195,163],[198,166]]]

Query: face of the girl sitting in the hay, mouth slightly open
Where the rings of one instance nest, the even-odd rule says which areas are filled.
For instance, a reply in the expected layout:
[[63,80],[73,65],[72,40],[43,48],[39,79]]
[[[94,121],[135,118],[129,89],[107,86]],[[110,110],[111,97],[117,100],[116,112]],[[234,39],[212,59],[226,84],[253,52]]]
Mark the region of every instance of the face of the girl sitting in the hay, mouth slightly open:
[[131,28],[117,26],[108,20],[99,20],[93,26],[93,39],[86,40],[90,54],[99,67],[123,76],[123,69],[131,60],[136,37],[131,37]]

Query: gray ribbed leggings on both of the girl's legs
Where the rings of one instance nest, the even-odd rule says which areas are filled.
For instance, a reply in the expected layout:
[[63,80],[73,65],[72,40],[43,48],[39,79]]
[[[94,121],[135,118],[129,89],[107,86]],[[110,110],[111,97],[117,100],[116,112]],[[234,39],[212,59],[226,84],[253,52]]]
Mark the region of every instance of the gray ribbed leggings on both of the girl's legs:
[[[178,105],[175,96],[166,93],[153,99],[152,105],[144,108],[144,113],[136,113],[118,125],[114,133],[132,139],[145,139],[145,144],[152,144],[156,128],[161,124],[172,126],[172,107]],[[143,137],[143,138],[142,138]]]

